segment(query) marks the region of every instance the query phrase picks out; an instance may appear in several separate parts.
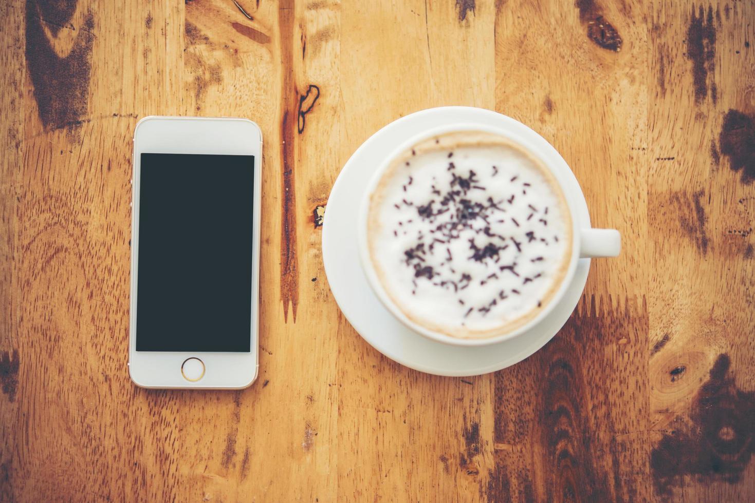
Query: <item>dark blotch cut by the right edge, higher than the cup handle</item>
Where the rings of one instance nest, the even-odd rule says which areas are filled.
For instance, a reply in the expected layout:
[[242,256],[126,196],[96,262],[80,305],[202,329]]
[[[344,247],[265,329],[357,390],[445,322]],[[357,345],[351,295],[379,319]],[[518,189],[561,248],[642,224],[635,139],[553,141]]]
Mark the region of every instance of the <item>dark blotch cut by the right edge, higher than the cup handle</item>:
[[721,154],[729,158],[732,170],[741,170],[741,182],[752,183],[755,179],[755,118],[730,109],[723,118],[718,143]]

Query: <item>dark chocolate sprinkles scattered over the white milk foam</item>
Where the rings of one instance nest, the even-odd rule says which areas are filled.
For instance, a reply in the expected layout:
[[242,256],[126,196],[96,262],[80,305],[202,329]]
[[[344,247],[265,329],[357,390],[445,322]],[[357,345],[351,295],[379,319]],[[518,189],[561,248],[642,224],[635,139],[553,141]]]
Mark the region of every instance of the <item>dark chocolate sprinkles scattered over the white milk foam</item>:
[[[439,143],[439,139],[436,139],[436,143]],[[495,287],[498,287],[494,287],[495,290],[498,290],[498,293],[492,293],[492,299],[485,299],[485,302],[479,302],[478,305],[470,305],[466,314],[464,314],[465,318],[473,312],[478,312],[482,314],[482,316],[485,316],[494,306],[505,305],[505,302],[503,301],[508,299],[507,291],[510,291],[510,293],[514,295],[522,295],[522,293],[516,289],[502,289],[501,287],[507,286],[507,282],[509,282],[508,284],[511,284],[511,282],[515,281],[513,278],[521,278],[522,285],[526,285],[542,277],[542,273],[532,275],[531,271],[527,271],[525,268],[522,268],[522,274],[529,273],[530,275],[522,277],[519,274],[519,271],[516,270],[516,259],[522,261],[523,258],[528,258],[532,263],[544,262],[545,259],[543,256],[537,256],[535,258],[529,257],[536,254],[536,252],[532,253],[533,250],[537,250],[538,247],[542,246],[539,243],[544,243],[546,245],[548,243],[545,238],[536,236],[533,230],[527,228],[534,228],[534,225],[519,222],[519,220],[522,219],[521,215],[518,214],[519,220],[510,217],[510,221],[516,226],[516,228],[521,228],[522,226],[525,227],[524,229],[521,229],[521,231],[514,231],[514,228],[510,226],[512,224],[508,223],[509,219],[499,219],[498,217],[501,215],[495,215],[496,212],[511,212],[512,209],[505,205],[504,201],[513,206],[514,201],[516,200],[516,194],[512,192],[516,192],[517,189],[522,189],[522,194],[526,195],[527,192],[525,188],[531,186],[529,182],[519,182],[518,188],[511,188],[512,190],[509,192],[508,198],[506,196],[501,197],[501,195],[498,195],[498,197],[501,198],[500,201],[497,200],[498,198],[494,199],[494,197],[486,198],[485,196],[487,196],[488,193],[485,191],[488,191],[491,187],[485,184],[485,176],[480,180],[474,170],[457,167],[454,162],[450,161],[450,159],[454,157],[455,152],[446,152],[448,152],[447,158],[449,159],[449,161],[447,161],[447,174],[442,175],[436,173],[438,176],[432,176],[432,185],[429,184],[432,194],[430,198],[415,198],[414,191],[412,191],[412,196],[407,196],[411,201],[404,198],[401,200],[400,204],[393,204],[397,210],[402,210],[404,207],[413,207],[416,209],[416,216],[414,216],[413,211],[409,213],[412,213],[414,220],[425,222],[427,228],[423,227],[421,230],[417,231],[416,228],[408,226],[413,221],[411,218],[406,219],[405,215],[399,215],[402,217],[402,221],[397,222],[398,226],[396,229],[393,229],[393,236],[398,237],[400,232],[399,227],[403,226],[408,231],[411,231],[409,234],[411,234],[413,238],[416,238],[413,246],[404,250],[403,257],[403,262],[405,262],[405,265],[411,270],[412,284],[414,285],[414,289],[411,290],[411,293],[413,295],[418,291],[420,292],[420,295],[422,295],[422,291],[420,290],[420,287],[418,287],[418,282],[425,281],[427,286],[441,287],[445,290],[451,290],[451,288],[453,288],[453,291],[458,295],[456,298],[459,305],[465,306],[466,304],[472,304],[472,302],[470,302],[470,299],[467,298],[464,293],[461,293],[462,290],[469,287],[472,283],[475,283],[475,285],[478,282],[480,285],[494,284]],[[411,155],[414,156],[417,154],[418,152],[414,149],[411,150]],[[405,164],[406,166],[409,166],[410,162],[405,161]],[[487,179],[489,180],[490,176],[498,175],[499,167],[492,164],[488,165],[492,168],[492,173],[486,173],[488,175]],[[442,165],[440,170],[442,171]],[[444,177],[445,180],[443,180]],[[513,182],[516,182],[519,177],[519,174],[512,176],[510,182],[513,184]],[[500,182],[505,186],[504,180],[505,179],[502,179]],[[405,184],[402,185],[402,192],[407,193],[408,186],[412,186],[413,182],[413,176],[408,176],[408,178],[405,179]],[[479,196],[479,192],[477,191],[482,191],[482,197]],[[492,194],[492,192],[490,193]],[[533,202],[537,201],[534,200]],[[501,204],[503,204],[504,207],[501,207]],[[529,216],[526,217],[527,221],[532,220],[535,213],[540,213],[540,210],[538,210],[537,207],[533,204],[528,204],[528,199],[522,198],[522,196],[520,196],[519,203],[514,207],[514,211],[522,211],[522,206],[524,204],[526,204],[526,206],[532,211],[529,213]],[[548,210],[548,207],[544,207],[543,215],[547,215]],[[441,217],[445,213],[448,214]],[[496,222],[498,225],[492,225],[491,222]],[[538,222],[547,225],[547,220],[544,218],[539,219]],[[430,235],[424,234],[424,232],[427,231],[430,232]],[[516,237],[522,235],[523,231],[527,231],[523,233],[526,236],[526,239],[523,240],[523,242],[517,241]],[[402,234],[407,235],[407,232],[403,232]],[[473,238],[469,238],[469,236],[473,236]],[[466,246],[463,244],[464,241],[458,241],[460,238],[464,239],[464,241],[468,241],[468,252],[466,250],[462,251]],[[558,241],[557,236],[553,236],[553,239]],[[455,244],[457,241],[458,243]],[[510,250],[510,244],[513,243],[513,246],[516,247],[516,253],[522,253],[522,249],[527,248],[529,244],[533,242],[535,243],[535,248],[524,250],[526,253],[525,257],[519,256],[515,254],[513,250]],[[436,244],[442,247],[438,249],[438,255],[434,252]],[[451,246],[448,246],[448,244],[451,244]],[[464,253],[464,255],[461,256],[462,260],[473,260],[474,262],[478,262],[482,265],[483,270],[485,268],[488,269],[487,273],[489,274],[483,279],[479,279],[479,277],[472,278],[468,273],[461,273],[461,275],[459,275],[455,269],[451,267],[454,265],[452,263],[454,257],[451,254],[451,247],[454,246],[459,246],[457,249],[458,251],[456,252],[457,254]],[[441,251],[443,248],[445,248],[445,254]],[[504,253],[504,250],[509,251]],[[512,256],[513,259],[515,259],[514,262],[510,262]],[[501,264],[509,263],[507,265],[499,265],[499,262]],[[491,269],[493,272],[490,272]],[[513,278],[504,274],[504,271],[510,271]],[[479,273],[476,273],[476,275],[477,274]],[[479,274],[479,276],[482,275],[483,274]],[[529,287],[525,287],[525,289],[526,288]],[[529,290],[525,291],[529,292]],[[535,299],[532,299],[532,302],[535,302]],[[477,304],[477,302],[474,303]],[[541,301],[538,301],[538,307],[540,307],[540,305]]]

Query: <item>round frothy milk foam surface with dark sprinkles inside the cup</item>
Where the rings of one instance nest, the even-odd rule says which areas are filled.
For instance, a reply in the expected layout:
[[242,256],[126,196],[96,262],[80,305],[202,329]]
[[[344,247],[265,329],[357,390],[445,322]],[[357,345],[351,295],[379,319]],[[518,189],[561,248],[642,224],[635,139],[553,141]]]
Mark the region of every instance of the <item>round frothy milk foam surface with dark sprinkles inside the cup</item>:
[[408,317],[451,336],[495,335],[534,316],[571,253],[550,175],[506,140],[476,134],[415,146],[371,199],[371,259],[385,290]]

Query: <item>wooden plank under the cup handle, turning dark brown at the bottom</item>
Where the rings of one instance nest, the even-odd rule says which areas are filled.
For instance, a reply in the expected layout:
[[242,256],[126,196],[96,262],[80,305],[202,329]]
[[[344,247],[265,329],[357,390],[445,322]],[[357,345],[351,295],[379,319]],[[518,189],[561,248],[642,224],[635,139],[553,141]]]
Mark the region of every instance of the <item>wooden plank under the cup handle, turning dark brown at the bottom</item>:
[[593,260],[578,311],[550,344],[497,373],[491,501],[651,496],[646,9],[505,2],[498,10],[496,109],[559,150],[592,225],[618,228],[623,249]]

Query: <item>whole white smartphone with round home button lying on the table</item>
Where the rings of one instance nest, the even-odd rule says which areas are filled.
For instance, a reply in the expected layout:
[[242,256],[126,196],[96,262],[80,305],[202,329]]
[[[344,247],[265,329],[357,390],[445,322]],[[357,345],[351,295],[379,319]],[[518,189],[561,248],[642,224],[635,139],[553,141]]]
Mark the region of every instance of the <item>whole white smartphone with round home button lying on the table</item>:
[[257,379],[262,133],[242,118],[134,130],[128,372],[143,388]]

